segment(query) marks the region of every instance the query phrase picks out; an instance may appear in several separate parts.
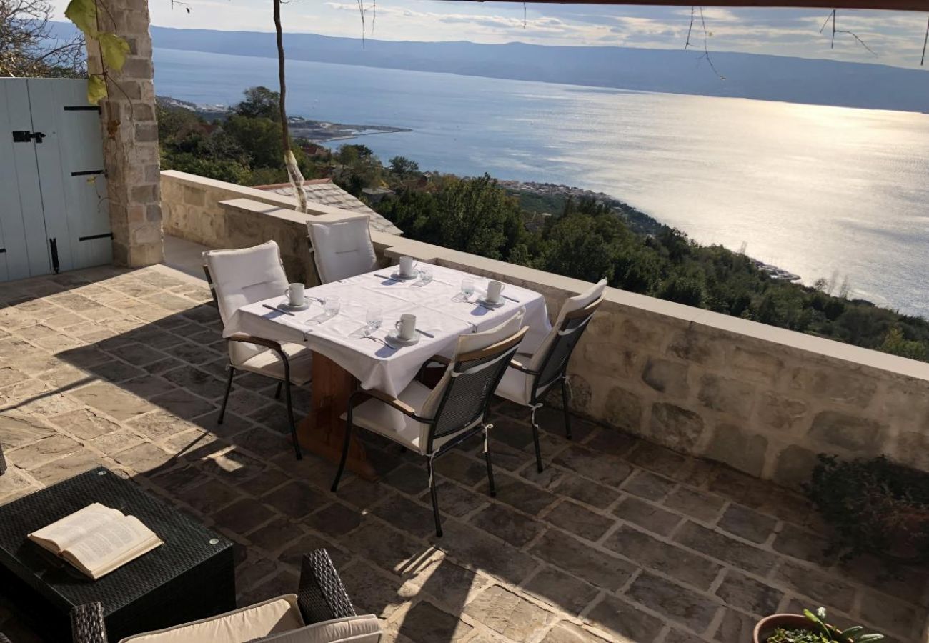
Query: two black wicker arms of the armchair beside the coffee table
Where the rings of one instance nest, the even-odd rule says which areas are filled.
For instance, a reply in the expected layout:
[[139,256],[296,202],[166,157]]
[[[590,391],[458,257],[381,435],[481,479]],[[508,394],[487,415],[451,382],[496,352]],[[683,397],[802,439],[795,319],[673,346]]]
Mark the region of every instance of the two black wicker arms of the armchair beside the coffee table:
[[[297,605],[307,625],[357,616],[351,598],[325,549],[304,554],[296,595]],[[73,643],[107,643],[103,609],[99,603],[74,608],[71,623]],[[4,636],[0,634],[0,643],[4,641]]]

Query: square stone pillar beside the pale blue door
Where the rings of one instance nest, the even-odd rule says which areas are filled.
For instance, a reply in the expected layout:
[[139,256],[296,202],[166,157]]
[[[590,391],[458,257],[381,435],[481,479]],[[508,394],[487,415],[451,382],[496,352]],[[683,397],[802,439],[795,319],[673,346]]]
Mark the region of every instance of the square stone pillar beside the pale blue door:
[[[150,266],[164,259],[164,237],[149,4],[107,0],[107,7],[100,9],[101,30],[129,43],[129,57],[122,71],[110,71],[109,97],[100,101],[113,263]],[[91,73],[100,71],[96,46],[88,46],[87,61]]]

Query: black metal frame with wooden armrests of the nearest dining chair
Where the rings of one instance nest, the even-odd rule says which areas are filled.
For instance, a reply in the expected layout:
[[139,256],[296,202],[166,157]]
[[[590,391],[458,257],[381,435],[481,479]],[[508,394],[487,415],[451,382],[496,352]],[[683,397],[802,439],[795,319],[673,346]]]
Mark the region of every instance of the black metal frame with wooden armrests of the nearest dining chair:
[[[425,445],[425,457],[426,462],[426,472],[429,476],[429,493],[432,496],[432,515],[436,521],[436,535],[440,538],[442,536],[442,521],[438,513],[438,493],[436,492],[436,476],[435,476],[435,466],[434,460],[440,455],[449,453],[452,449],[457,447],[459,444],[468,440],[475,435],[482,434],[484,437],[484,462],[487,465],[487,480],[489,485],[489,491],[491,497],[495,497],[497,494],[496,488],[493,484],[493,465],[491,464],[491,451],[488,448],[487,444],[487,429],[489,425],[487,424],[487,416],[490,413],[491,398],[493,397],[493,391],[496,390],[497,385],[500,384],[500,380],[503,379],[504,372],[506,367],[509,365],[509,361],[512,359],[513,355],[516,354],[519,342],[522,341],[523,337],[526,335],[526,332],[529,330],[529,327],[524,326],[521,328],[515,335],[507,337],[501,342],[494,344],[487,348],[481,348],[480,350],[471,351],[468,353],[463,353],[462,355],[457,356],[454,366],[452,367],[452,383],[446,387],[445,391],[442,394],[442,399],[439,400],[438,408],[436,409],[436,415],[432,418],[422,417],[416,413],[416,409],[413,409],[412,406],[405,403],[402,400],[398,400],[392,396],[387,395],[386,393],[376,390],[376,389],[363,389],[359,388],[351,394],[351,397],[348,399],[348,411],[346,418],[346,438],[345,443],[342,447],[342,459],[339,461],[338,471],[335,473],[335,479],[333,481],[332,492],[338,491],[339,480],[342,478],[342,474],[345,471],[346,460],[348,457],[348,448],[351,444],[351,434],[352,429],[355,427],[353,422],[353,413],[355,407],[360,404],[360,401],[367,400],[368,398],[375,398],[385,402],[388,406],[391,406],[397,409],[400,413],[411,417],[416,422],[428,425],[429,428],[429,438]],[[451,399],[454,389],[454,377],[456,374],[465,374],[467,369],[463,368],[464,362],[467,361],[477,361],[487,359],[486,363],[491,363],[495,359],[499,359],[500,363],[496,367],[498,372],[493,375],[491,378],[491,386],[487,387],[485,392],[484,400],[481,400],[481,403],[477,405],[477,411],[467,420],[461,423],[457,428],[443,428],[441,435],[438,438],[442,438],[445,435],[451,435],[457,431],[462,431],[459,435],[456,435],[452,440],[449,440],[442,444],[438,450],[433,451],[432,444],[433,441],[437,438],[436,430],[439,422],[443,419],[442,412],[446,408],[446,404]],[[435,356],[429,360],[429,362],[437,361],[438,363],[444,363],[446,366],[450,365],[451,362],[446,360],[443,357]],[[426,363],[429,363],[426,362]],[[481,368],[484,367],[484,364],[478,365]],[[479,421],[478,421],[479,420]],[[477,422],[475,426],[472,426],[469,429],[463,430],[465,426],[469,426]]]

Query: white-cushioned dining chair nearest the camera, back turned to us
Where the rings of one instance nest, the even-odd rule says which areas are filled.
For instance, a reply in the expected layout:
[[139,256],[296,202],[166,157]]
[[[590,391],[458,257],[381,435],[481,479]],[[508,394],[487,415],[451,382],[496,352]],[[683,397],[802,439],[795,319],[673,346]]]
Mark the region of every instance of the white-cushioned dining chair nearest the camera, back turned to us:
[[[346,439],[333,492],[338,490],[345,470],[352,429],[360,426],[428,459],[426,470],[437,536],[442,535],[442,523],[438,516],[433,460],[439,455],[448,453],[474,435],[483,434],[487,478],[491,496],[495,495],[491,453],[487,448],[487,431],[491,428],[486,422],[487,412],[494,388],[529,330],[522,325],[523,316],[524,311],[520,309],[491,330],[460,335],[451,360],[432,359],[446,364],[445,373],[435,388],[413,381],[396,398],[376,389],[355,391],[348,400],[347,413],[342,415],[347,423]],[[399,429],[392,409],[403,413],[403,426]]]

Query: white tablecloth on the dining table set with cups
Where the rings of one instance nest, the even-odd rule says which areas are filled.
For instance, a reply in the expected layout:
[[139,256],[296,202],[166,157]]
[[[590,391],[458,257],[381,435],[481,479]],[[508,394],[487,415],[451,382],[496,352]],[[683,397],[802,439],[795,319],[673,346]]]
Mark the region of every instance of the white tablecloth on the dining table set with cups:
[[[461,301],[461,282],[471,278],[478,295],[486,292],[487,279],[460,270],[431,266],[433,281],[393,282],[375,275],[390,275],[395,269],[375,270],[341,282],[326,283],[307,289],[309,308],[286,315],[264,308],[279,306],[286,297],[272,297],[239,308],[229,320],[224,335],[247,333],[281,342],[306,344],[345,368],[360,381],[362,388],[377,388],[396,396],[412,382],[423,363],[433,355],[451,357],[458,335],[484,331],[504,322],[522,307],[525,323],[530,327],[520,350],[531,352],[542,343],[551,330],[545,300],[542,295],[507,284],[504,295],[517,302],[502,299],[504,306],[490,310],[474,303]],[[311,299],[337,295],[341,310],[326,318],[322,304]],[[414,346],[387,348],[362,334],[368,308],[380,307],[383,325],[374,333],[384,338],[395,328],[404,313],[416,316],[416,327],[435,337],[419,336]]]

